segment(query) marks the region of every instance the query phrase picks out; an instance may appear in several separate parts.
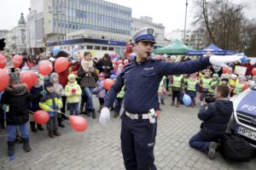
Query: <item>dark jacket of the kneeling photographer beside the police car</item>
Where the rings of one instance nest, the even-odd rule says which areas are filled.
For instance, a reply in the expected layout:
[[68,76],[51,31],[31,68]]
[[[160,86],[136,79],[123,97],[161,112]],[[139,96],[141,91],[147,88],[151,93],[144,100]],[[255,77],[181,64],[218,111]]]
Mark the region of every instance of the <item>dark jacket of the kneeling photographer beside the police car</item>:
[[201,137],[207,140],[220,139],[227,128],[233,112],[230,100],[218,99],[207,106],[201,107],[198,118],[201,123]]

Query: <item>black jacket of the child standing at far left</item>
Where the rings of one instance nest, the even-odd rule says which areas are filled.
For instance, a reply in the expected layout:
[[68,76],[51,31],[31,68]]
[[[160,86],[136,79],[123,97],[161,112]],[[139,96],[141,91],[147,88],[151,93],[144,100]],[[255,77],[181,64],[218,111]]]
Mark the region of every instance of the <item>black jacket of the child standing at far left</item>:
[[31,100],[39,99],[42,95],[32,96],[26,88],[20,90],[20,93],[13,93],[12,89],[6,89],[2,99],[2,105],[9,105],[9,112],[6,113],[7,125],[22,125],[28,122],[29,114],[27,105]]

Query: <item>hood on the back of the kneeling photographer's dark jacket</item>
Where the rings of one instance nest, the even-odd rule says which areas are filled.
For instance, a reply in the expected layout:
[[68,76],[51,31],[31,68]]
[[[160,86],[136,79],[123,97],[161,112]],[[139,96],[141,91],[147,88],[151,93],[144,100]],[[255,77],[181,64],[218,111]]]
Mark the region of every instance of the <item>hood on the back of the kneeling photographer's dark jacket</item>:
[[215,103],[216,108],[223,116],[230,116],[230,112],[234,111],[233,102],[230,100],[218,99]]

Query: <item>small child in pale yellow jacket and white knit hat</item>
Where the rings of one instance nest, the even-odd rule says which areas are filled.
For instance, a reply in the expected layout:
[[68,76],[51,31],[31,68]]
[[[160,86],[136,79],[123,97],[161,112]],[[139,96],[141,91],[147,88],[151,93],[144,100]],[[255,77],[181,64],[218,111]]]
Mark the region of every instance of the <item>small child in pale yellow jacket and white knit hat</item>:
[[78,82],[76,81],[76,76],[70,74],[68,77],[68,82],[65,87],[65,95],[67,96],[67,104],[69,105],[70,115],[79,116],[79,100],[82,94],[82,89],[80,88]]

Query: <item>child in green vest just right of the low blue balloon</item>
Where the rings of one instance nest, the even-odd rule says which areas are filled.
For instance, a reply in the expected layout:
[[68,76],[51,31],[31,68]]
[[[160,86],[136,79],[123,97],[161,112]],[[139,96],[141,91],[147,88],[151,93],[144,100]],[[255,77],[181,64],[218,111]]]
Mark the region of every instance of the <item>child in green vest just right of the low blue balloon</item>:
[[195,106],[196,92],[199,90],[199,82],[196,78],[196,74],[190,74],[186,84],[186,94],[191,98],[191,107]]

